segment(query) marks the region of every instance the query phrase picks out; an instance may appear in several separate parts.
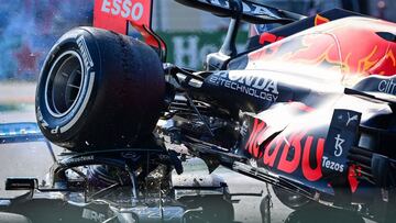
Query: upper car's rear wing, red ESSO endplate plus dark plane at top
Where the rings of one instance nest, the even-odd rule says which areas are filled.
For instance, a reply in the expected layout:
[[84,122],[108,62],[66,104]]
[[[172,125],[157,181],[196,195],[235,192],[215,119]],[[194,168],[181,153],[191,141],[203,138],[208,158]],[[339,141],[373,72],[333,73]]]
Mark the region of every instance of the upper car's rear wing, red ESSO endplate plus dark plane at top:
[[[160,0],[164,1],[164,0]],[[187,7],[209,11],[219,16],[235,16],[231,4],[241,3],[241,19],[250,23],[288,24],[305,16],[265,5],[258,0],[175,0]],[[166,60],[165,42],[152,30],[154,0],[95,0],[94,26],[127,35],[134,27],[144,42]]]

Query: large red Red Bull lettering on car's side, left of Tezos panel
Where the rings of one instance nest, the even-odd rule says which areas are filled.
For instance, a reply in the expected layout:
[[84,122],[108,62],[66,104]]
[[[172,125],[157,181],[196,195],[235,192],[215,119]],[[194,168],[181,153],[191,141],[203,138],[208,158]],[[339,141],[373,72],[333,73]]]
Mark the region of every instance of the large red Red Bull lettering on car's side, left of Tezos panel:
[[[309,181],[317,181],[322,177],[320,164],[322,164],[324,138],[315,138],[307,132],[296,132],[289,136],[278,135],[262,145],[262,136],[266,127],[265,122],[254,121],[252,134],[245,145],[245,149],[253,157],[261,158],[264,165],[286,174],[300,169]],[[323,165],[326,166],[326,161]]]

